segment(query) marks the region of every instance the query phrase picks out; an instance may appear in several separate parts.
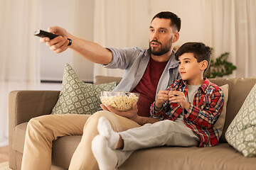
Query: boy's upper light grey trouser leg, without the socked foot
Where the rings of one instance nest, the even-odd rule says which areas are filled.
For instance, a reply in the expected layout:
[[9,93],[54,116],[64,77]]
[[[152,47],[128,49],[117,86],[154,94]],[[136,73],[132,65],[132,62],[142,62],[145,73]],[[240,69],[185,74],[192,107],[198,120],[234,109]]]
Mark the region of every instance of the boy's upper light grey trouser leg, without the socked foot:
[[186,125],[171,120],[146,124],[119,132],[124,140],[124,151],[159,146],[198,146],[199,137]]

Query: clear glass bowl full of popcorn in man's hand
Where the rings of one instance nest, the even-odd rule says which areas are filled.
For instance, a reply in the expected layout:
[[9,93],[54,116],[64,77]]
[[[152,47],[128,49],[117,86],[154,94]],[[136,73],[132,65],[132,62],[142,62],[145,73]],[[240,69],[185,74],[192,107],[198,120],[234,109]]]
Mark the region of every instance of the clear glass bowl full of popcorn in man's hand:
[[120,91],[100,91],[100,101],[104,106],[112,106],[117,111],[129,111],[132,104],[139,101],[139,94]]

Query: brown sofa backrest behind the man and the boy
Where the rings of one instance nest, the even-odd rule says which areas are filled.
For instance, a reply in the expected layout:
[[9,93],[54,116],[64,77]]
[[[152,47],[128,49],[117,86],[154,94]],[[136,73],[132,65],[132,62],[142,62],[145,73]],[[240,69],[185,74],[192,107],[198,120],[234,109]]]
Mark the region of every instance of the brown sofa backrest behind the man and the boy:
[[[109,83],[111,81],[121,81],[121,77],[104,77],[97,76],[95,77],[95,84]],[[227,114],[225,118],[225,125],[223,128],[223,133],[220,137],[220,142],[227,142],[225,140],[225,131],[232,122],[235,115],[240,110],[242,103],[245,101],[245,98],[249,94],[250,90],[256,83],[256,77],[251,78],[232,78],[232,79],[209,79],[212,83],[217,84],[218,86],[223,86],[224,84],[229,85],[228,89],[228,103],[227,103]]]

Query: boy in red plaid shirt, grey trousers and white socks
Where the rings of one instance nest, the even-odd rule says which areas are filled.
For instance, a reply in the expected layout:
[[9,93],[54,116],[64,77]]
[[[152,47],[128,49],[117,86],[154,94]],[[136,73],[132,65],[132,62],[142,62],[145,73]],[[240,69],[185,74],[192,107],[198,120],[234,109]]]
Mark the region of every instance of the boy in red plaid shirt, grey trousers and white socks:
[[92,141],[92,152],[100,169],[120,166],[137,149],[218,144],[220,136],[214,124],[222,111],[224,95],[217,85],[203,78],[210,53],[210,47],[201,42],[187,42],[178,49],[181,79],[166,91],[159,91],[151,105],[151,117],[161,121],[117,133],[107,119],[99,119],[100,135]]

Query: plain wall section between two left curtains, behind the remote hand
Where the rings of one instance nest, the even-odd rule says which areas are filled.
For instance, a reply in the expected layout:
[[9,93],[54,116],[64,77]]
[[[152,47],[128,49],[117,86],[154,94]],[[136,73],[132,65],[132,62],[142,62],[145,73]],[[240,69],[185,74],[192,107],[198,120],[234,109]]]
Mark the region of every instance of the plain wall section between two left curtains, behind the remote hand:
[[[38,13],[38,19],[41,20],[41,28],[38,29],[47,30],[50,26],[60,26],[82,39],[92,41],[93,16],[94,0],[45,0],[41,3],[41,11]],[[68,62],[74,67],[80,79],[92,81],[93,64],[72,50],[55,54],[42,44],[40,55],[41,80],[61,81],[65,63]]]

